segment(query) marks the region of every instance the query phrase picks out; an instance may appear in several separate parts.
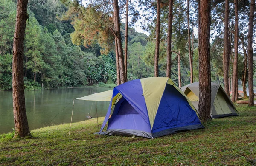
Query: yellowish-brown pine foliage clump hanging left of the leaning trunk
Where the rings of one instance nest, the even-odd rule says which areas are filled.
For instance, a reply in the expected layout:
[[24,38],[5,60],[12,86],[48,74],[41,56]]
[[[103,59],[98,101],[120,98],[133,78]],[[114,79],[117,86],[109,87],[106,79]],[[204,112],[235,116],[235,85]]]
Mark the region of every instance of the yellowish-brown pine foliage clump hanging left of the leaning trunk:
[[[78,1],[69,3],[69,10],[64,20],[71,20],[75,31],[70,34],[73,44],[91,46],[100,45],[102,53],[108,53],[113,46],[113,34],[109,27],[113,26],[113,19],[93,7],[77,7]],[[75,12],[75,14],[74,14]]]

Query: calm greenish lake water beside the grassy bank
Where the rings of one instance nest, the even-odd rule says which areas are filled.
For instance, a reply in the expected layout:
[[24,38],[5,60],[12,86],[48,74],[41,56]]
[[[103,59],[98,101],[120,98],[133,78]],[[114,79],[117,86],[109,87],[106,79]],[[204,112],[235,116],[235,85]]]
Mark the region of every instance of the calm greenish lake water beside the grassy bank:
[[[45,127],[48,123],[48,126],[70,123],[73,98],[79,98],[106,90],[111,90],[111,88],[85,87],[25,91],[26,113],[29,121],[29,129],[32,130]],[[69,105],[67,106],[67,104]],[[109,102],[97,101],[99,117],[106,115],[108,105]],[[86,118],[88,113],[90,113],[90,116],[93,118],[96,118],[95,102],[93,103],[92,110],[91,106],[92,101],[75,100],[72,122],[88,120],[88,118]],[[64,107],[66,108],[64,109]],[[12,131],[12,128],[14,128],[12,91],[0,91],[0,133],[10,132]]]

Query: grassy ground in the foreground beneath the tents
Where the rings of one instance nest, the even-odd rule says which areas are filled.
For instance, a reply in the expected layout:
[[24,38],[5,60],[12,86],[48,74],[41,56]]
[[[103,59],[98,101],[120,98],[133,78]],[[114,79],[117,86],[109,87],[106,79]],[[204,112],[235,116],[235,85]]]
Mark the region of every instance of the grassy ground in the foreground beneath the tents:
[[[32,130],[32,139],[0,135],[1,166],[251,166],[256,165],[256,107],[239,117],[156,139],[98,136],[96,119]],[[103,118],[100,118],[102,124]]]

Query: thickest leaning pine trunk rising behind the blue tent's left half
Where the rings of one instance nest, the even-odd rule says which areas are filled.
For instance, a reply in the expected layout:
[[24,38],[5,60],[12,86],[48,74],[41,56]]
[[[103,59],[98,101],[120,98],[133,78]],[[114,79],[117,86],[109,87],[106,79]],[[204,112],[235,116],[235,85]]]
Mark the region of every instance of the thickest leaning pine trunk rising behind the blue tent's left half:
[[127,82],[127,76],[125,74],[124,54],[122,49],[118,0],[114,0],[114,13],[115,13],[114,16],[116,21],[116,40],[118,45],[120,83],[123,84]]

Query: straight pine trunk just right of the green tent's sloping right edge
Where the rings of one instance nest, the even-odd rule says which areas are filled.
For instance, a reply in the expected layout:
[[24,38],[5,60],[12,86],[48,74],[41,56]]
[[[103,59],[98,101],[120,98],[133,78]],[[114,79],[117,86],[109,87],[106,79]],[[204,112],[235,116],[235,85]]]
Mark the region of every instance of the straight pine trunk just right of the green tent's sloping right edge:
[[238,60],[238,0],[234,0],[235,5],[235,57],[233,61],[233,77],[232,77],[232,98],[231,101],[237,101],[236,97],[238,97],[238,91],[236,87],[238,87],[238,68],[237,68],[237,60]]

